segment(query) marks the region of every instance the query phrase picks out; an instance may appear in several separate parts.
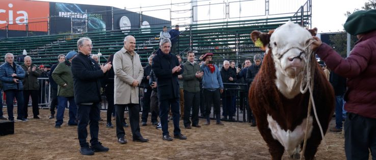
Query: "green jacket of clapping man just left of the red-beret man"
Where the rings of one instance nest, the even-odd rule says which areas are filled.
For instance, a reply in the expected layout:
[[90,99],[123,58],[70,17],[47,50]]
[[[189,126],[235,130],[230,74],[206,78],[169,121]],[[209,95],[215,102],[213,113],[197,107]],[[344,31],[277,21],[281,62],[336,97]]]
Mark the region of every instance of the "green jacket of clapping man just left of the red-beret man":
[[200,65],[195,63],[192,65],[189,61],[183,64],[183,89],[184,91],[195,93],[200,92],[200,78],[196,77],[196,72],[200,71]]

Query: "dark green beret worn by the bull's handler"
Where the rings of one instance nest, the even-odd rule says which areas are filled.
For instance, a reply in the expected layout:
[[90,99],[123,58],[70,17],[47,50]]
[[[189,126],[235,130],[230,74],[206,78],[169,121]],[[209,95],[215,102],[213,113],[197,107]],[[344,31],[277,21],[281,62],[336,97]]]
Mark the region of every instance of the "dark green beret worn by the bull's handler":
[[376,30],[376,10],[354,12],[348,16],[343,28],[354,36]]

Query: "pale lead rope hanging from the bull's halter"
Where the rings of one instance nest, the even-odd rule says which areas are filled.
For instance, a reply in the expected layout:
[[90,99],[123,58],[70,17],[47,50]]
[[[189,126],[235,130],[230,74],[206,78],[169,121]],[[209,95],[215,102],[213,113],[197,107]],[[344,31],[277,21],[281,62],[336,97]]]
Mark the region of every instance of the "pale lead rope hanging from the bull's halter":
[[[305,47],[305,52],[308,53],[307,55],[307,59],[306,60],[306,66],[304,67],[304,70],[303,70],[303,73],[304,71],[306,71],[306,75],[304,75],[304,78],[303,78],[303,81],[301,82],[301,86],[300,86],[300,92],[302,94],[306,93],[307,92],[307,89],[309,90],[309,102],[308,102],[308,113],[307,113],[307,122],[306,122],[306,134],[304,136],[304,143],[303,143],[303,149],[302,149],[302,153],[300,155],[300,159],[302,160],[303,159],[303,156],[304,156],[304,152],[306,150],[306,145],[307,145],[307,139],[308,139],[308,122],[309,122],[309,117],[311,115],[311,106],[313,105],[313,112],[315,114],[315,118],[316,118],[316,121],[317,121],[317,124],[318,124],[318,127],[320,128],[320,133],[321,133],[321,138],[323,138],[323,144],[326,145],[325,143],[325,139],[324,139],[324,132],[323,132],[323,127],[321,127],[321,124],[318,120],[318,117],[317,117],[317,113],[316,113],[316,106],[315,106],[315,102],[313,100],[313,82],[314,82],[314,69],[315,67],[312,67],[313,65],[316,65],[315,64],[315,61],[316,61],[316,58],[315,58],[315,54],[313,53],[313,50],[310,49],[310,45],[315,41],[315,39],[313,38],[310,38],[306,41],[306,47]],[[305,86],[305,87],[303,87]]]

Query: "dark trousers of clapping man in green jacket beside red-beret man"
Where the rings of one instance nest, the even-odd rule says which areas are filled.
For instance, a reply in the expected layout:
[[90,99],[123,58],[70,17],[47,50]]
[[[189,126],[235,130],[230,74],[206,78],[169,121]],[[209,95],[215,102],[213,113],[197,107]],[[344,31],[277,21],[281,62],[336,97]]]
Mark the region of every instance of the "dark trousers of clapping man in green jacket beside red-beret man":
[[198,112],[200,105],[200,92],[188,92],[184,90],[184,126],[190,126],[190,113],[192,108],[192,125],[198,125]]

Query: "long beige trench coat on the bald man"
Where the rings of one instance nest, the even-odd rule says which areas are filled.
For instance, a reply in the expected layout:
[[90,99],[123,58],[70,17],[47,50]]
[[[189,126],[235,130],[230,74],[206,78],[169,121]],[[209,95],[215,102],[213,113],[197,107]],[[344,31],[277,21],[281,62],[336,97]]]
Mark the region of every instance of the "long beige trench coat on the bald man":
[[139,87],[133,87],[133,80],[141,83],[144,76],[140,56],[135,52],[133,62],[127,50],[123,47],[114,55],[113,67],[115,71],[114,102],[115,104],[138,104]]

